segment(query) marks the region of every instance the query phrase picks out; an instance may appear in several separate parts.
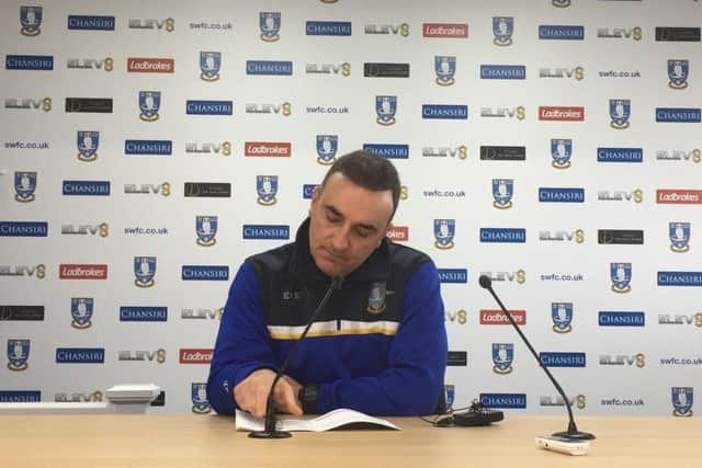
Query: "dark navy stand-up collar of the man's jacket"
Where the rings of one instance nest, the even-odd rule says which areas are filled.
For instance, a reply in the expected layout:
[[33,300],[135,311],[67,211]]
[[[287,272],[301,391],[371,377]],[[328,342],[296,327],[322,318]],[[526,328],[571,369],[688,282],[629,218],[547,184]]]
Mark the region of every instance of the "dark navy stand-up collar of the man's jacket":
[[[302,283],[316,283],[330,281],[312,256],[309,252],[309,217],[297,229],[288,274],[291,279]],[[387,281],[390,276],[390,250],[389,241],[383,239],[381,246],[371,253],[371,256],[356,270],[349,273],[344,282]]]

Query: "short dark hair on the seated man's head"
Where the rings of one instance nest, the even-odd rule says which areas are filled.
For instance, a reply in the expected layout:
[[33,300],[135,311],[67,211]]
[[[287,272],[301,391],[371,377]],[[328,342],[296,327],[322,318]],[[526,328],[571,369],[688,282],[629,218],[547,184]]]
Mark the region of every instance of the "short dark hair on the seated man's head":
[[372,192],[390,191],[393,193],[390,219],[393,219],[399,203],[400,186],[399,175],[390,161],[363,150],[350,152],[337,158],[329,171],[327,171],[320,187],[324,189],[327,180],[337,172],[340,172],[354,184]]

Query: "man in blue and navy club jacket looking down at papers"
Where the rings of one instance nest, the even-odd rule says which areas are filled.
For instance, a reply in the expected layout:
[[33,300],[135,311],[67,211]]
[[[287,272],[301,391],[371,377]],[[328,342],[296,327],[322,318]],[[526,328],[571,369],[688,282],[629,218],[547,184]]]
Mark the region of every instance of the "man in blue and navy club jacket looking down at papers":
[[275,409],[433,412],[446,366],[444,309],[431,260],[385,237],[399,193],[388,160],[364,151],[340,157],[315,189],[295,242],[246,260],[212,359],[215,411],[265,414],[275,372],[331,278],[343,277],[276,384]]

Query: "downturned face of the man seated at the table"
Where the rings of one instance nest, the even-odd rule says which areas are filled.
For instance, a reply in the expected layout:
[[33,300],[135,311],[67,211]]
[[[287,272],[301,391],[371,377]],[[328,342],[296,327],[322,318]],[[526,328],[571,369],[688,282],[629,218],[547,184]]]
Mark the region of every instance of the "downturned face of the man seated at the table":
[[381,244],[393,214],[392,192],[373,192],[337,172],[309,207],[309,251],[329,276],[346,276]]

